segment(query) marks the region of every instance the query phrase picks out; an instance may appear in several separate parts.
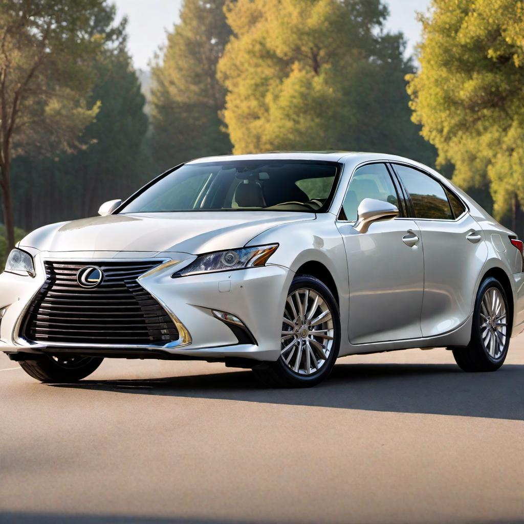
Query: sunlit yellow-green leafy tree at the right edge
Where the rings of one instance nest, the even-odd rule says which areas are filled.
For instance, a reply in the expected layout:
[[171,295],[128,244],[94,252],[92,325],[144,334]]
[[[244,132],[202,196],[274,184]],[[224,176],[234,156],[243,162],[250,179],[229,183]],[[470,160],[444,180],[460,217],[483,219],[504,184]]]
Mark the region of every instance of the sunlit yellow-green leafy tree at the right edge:
[[464,189],[490,187],[494,214],[516,228],[524,202],[524,4],[433,0],[420,15],[421,70],[411,74],[413,121],[454,165]]

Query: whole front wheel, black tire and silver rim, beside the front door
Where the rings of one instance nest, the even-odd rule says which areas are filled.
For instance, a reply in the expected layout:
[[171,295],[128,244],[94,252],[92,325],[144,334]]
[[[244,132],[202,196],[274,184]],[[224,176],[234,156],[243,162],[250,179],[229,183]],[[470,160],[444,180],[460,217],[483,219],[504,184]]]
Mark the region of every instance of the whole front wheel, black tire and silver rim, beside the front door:
[[[297,297],[300,298],[300,305]],[[304,303],[307,304],[305,315],[302,313]],[[310,322],[316,321],[316,324],[308,324],[308,318]],[[300,324],[297,325],[293,319],[297,319]],[[289,335],[282,336],[279,359],[253,370],[264,385],[278,388],[311,387],[330,375],[339,356],[340,313],[333,293],[318,278],[310,275],[293,278],[283,313],[282,332]]]

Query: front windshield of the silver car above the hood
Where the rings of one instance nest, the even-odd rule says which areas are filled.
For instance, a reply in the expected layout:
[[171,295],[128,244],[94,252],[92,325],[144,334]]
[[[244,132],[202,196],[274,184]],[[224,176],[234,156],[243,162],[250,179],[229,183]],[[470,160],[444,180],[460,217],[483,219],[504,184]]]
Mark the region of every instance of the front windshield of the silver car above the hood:
[[223,161],[183,165],[140,192],[121,213],[328,209],[335,162]]

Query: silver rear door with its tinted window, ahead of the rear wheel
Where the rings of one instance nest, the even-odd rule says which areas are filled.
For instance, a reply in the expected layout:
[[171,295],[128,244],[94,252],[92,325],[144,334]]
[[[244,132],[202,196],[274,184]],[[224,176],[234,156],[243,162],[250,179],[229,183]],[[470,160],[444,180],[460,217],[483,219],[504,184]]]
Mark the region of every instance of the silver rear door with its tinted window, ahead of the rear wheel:
[[408,195],[424,253],[424,337],[453,331],[471,313],[476,281],[487,258],[481,227],[461,199],[411,166],[392,165]]

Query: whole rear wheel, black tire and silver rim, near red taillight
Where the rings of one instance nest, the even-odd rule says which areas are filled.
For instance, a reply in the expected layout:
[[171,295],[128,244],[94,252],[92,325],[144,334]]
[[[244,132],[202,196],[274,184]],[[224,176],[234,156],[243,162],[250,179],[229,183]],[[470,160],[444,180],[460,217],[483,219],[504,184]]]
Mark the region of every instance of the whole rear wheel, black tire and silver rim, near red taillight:
[[509,320],[506,292],[496,278],[488,277],[478,288],[470,343],[453,348],[459,367],[466,372],[487,372],[503,365],[511,337]]

